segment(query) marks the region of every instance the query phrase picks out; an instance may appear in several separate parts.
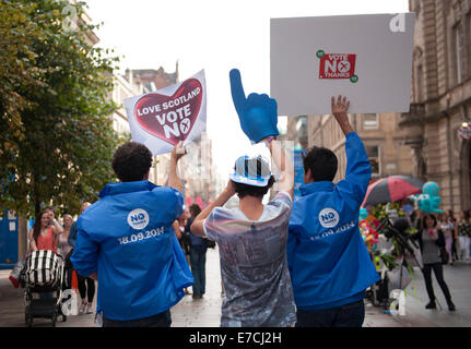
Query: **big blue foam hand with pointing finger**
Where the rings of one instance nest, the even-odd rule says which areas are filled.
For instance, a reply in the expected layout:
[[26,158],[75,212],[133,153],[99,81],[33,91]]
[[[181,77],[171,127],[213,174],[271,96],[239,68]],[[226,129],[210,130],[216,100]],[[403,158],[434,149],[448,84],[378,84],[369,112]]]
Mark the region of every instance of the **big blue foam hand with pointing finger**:
[[276,100],[255,93],[246,98],[238,69],[231,70],[229,80],[234,107],[249,140],[258,143],[270,135],[279,135]]

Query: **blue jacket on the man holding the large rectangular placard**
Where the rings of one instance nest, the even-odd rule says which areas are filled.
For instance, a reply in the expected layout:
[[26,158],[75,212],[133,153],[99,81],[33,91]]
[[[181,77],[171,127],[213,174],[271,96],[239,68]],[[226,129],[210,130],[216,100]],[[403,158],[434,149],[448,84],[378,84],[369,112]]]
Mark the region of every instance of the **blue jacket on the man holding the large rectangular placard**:
[[345,151],[345,179],[302,185],[293,204],[287,262],[298,309],[352,303],[379,280],[358,229],[372,168],[356,133],[346,135]]

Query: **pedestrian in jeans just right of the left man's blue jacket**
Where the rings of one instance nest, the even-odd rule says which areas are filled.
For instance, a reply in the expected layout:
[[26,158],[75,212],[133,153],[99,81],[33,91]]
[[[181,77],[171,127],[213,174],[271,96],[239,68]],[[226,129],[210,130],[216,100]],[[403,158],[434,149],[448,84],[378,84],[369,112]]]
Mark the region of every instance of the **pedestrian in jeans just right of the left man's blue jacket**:
[[190,266],[193,274],[193,299],[201,299],[205,293],[207,288],[207,242],[205,239],[196,236],[191,232],[191,224],[201,213],[201,207],[198,204],[192,204],[189,208],[190,217],[187,219],[185,231],[190,238]]

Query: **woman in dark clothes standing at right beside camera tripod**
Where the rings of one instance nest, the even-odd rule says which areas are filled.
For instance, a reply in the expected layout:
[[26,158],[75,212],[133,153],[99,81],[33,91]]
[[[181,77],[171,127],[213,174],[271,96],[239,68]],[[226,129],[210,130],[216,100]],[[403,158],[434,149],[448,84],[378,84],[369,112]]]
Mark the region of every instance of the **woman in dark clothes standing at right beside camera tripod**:
[[427,290],[429,302],[425,305],[426,309],[436,309],[436,298],[432,286],[432,270],[435,278],[445,294],[449,311],[455,311],[455,304],[451,301],[451,294],[444,279],[444,267],[440,258],[440,248],[445,246],[445,237],[441,229],[437,225],[437,218],[432,215],[425,215],[422,218],[421,229],[411,236],[411,239],[419,241],[421,249],[423,274],[425,279],[425,288]]

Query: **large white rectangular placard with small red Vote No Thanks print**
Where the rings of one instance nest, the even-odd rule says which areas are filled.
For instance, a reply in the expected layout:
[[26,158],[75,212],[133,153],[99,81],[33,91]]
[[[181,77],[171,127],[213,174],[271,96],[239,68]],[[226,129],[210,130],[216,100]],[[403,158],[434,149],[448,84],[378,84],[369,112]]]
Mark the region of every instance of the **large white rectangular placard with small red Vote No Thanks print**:
[[415,13],[272,19],[270,89],[280,116],[407,112]]

